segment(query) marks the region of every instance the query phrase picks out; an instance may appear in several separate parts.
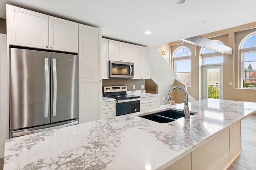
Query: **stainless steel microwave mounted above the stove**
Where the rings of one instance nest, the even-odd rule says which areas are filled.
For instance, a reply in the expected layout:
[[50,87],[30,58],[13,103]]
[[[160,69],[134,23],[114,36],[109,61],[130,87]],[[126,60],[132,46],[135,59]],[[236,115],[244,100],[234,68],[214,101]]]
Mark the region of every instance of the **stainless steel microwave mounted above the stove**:
[[109,61],[109,78],[133,78],[134,63]]

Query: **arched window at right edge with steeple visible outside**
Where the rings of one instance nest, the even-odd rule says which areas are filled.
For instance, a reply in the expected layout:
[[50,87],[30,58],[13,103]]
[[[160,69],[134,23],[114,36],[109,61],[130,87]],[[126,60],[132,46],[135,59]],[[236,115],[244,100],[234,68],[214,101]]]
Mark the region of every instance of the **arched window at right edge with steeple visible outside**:
[[240,43],[241,87],[256,88],[256,33],[244,37]]

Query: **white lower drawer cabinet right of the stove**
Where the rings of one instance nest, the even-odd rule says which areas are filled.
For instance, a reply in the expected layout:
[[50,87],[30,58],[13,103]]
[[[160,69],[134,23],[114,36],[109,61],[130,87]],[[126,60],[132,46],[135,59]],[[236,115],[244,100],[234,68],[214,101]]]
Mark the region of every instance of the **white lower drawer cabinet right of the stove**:
[[159,108],[159,102],[159,96],[140,98],[140,111]]

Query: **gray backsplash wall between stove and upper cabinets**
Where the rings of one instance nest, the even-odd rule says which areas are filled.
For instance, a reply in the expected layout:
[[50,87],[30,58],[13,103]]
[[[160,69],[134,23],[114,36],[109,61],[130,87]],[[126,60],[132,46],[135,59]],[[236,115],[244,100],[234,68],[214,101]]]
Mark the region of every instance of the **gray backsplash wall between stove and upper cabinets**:
[[103,79],[102,86],[127,86],[127,90],[134,90],[133,85],[135,85],[135,90],[145,90],[141,89],[141,85],[145,87],[145,80],[131,80],[122,78],[110,78]]

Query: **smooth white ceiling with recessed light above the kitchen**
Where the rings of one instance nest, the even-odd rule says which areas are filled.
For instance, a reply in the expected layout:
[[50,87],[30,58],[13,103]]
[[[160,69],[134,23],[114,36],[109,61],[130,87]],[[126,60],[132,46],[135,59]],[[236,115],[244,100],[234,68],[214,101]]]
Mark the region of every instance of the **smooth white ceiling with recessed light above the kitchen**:
[[[256,0],[0,0],[5,4],[86,23],[102,36],[144,46],[202,35],[256,21]],[[207,20],[207,23],[203,21]],[[151,31],[149,35],[145,31]]]

